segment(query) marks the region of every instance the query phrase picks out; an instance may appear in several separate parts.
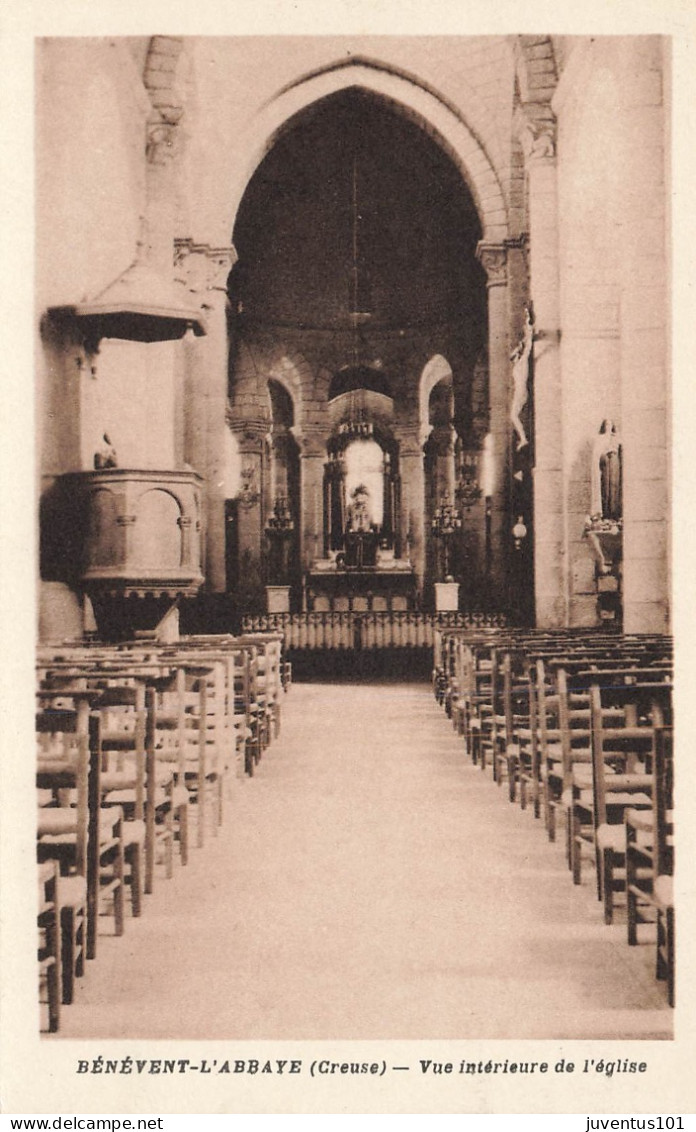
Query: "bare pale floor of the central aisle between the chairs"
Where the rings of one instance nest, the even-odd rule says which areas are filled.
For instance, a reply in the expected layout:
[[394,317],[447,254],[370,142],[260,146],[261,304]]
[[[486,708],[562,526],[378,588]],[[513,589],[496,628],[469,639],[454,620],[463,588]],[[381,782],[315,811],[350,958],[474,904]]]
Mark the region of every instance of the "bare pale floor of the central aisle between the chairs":
[[61,1037],[667,1038],[652,946],[426,685],[295,685],[216,840],[100,940]]

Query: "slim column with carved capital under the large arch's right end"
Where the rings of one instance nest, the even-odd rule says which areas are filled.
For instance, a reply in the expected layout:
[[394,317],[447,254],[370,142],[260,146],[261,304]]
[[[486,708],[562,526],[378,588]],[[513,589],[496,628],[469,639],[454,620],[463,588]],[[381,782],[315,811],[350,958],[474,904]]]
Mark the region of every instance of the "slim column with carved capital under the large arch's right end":
[[493,483],[490,496],[491,557],[489,584],[491,603],[505,604],[506,555],[509,548],[508,445],[509,445],[509,311],[507,294],[507,248],[481,240],[476,248],[488,280],[488,367],[490,436]]

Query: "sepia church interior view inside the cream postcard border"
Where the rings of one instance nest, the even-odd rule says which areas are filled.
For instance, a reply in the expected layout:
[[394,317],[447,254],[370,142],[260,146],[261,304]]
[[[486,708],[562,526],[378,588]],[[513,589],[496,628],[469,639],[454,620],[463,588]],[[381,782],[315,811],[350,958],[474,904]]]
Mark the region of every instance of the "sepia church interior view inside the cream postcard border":
[[671,1037],[669,42],[36,85],[42,1029]]

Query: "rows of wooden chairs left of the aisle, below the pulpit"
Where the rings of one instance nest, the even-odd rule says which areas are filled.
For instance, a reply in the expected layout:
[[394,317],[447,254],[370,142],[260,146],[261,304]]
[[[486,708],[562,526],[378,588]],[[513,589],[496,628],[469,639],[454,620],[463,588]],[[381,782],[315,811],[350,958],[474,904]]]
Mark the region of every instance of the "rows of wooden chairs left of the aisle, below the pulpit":
[[76,643],[37,658],[40,975],[55,1030],[97,949],[156,873],[223,822],[237,779],[278,734],[290,685],[278,634],[175,644]]

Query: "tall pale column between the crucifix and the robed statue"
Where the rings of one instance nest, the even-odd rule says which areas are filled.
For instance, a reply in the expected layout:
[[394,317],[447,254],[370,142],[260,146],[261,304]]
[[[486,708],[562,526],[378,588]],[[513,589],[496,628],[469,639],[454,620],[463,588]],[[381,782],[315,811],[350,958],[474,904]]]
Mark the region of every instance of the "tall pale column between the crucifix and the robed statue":
[[[536,625],[568,621],[564,518],[562,384],[558,269],[556,120],[547,104],[525,106],[516,126],[530,209],[530,292],[534,305],[534,585]],[[525,520],[527,516],[525,516]]]

